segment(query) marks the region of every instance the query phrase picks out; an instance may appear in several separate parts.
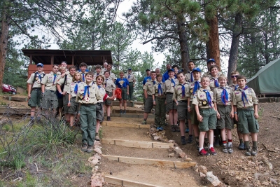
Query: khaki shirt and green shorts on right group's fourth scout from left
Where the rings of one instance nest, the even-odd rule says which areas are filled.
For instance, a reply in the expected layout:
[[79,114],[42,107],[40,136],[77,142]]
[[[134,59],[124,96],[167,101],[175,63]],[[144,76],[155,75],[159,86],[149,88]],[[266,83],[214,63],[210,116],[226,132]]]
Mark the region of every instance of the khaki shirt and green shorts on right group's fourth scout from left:
[[186,97],[186,90],[188,89],[188,83],[178,83],[174,87],[172,99],[176,99],[178,102],[177,111],[178,111],[178,120],[187,119],[188,111],[188,97]]

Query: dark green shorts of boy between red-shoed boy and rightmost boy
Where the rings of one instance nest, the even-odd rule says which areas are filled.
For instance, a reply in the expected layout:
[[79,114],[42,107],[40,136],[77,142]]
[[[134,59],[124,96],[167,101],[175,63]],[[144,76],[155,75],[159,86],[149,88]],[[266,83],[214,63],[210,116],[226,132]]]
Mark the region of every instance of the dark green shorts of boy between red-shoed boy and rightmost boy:
[[218,113],[220,113],[220,119],[217,119],[217,129],[233,129],[233,119],[230,118],[230,112],[232,111],[231,105],[217,105]]

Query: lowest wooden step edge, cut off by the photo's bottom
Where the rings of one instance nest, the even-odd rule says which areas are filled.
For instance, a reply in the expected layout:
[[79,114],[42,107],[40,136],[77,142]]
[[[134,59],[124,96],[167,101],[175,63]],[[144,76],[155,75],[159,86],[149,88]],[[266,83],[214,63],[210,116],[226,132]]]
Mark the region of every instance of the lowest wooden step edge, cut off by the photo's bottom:
[[115,185],[120,185],[120,186],[135,186],[135,187],[161,187],[158,185],[153,185],[150,183],[142,183],[138,181],[131,181],[127,179],[121,179],[115,176],[104,176],[105,182],[110,183],[110,184],[115,184]]

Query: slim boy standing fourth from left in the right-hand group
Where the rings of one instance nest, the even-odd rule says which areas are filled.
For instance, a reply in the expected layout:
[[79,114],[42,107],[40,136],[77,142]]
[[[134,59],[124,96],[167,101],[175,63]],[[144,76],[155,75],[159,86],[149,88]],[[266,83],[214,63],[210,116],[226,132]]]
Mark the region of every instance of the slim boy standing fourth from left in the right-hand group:
[[188,97],[186,97],[188,83],[186,83],[185,76],[183,75],[182,71],[177,74],[177,79],[179,83],[174,87],[172,99],[177,106],[178,120],[181,132],[181,144],[186,145],[187,141],[185,138],[185,120],[187,119],[188,114]]

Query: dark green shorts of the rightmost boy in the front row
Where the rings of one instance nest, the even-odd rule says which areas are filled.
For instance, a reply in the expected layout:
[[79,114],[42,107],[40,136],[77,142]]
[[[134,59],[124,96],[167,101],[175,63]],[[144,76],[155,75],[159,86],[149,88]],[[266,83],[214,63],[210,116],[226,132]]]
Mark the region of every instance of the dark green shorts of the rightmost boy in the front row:
[[259,131],[260,125],[258,125],[258,120],[255,119],[253,114],[253,108],[237,109],[238,130],[242,134],[257,133]]

